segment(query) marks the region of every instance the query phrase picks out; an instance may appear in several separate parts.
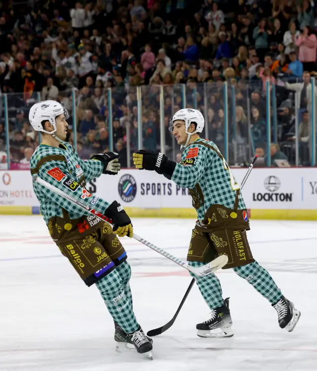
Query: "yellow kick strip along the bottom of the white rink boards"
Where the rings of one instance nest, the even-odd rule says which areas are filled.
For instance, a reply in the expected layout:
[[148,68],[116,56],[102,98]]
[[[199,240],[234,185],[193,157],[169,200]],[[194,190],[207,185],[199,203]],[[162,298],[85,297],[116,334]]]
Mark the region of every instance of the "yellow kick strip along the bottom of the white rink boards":
[[[162,209],[139,209],[124,208],[128,215],[133,217],[149,218],[197,218],[197,212],[193,208],[162,208]],[[0,215],[32,215],[31,206],[0,206]],[[268,220],[317,220],[317,210],[274,210],[252,209],[248,210],[250,219]]]

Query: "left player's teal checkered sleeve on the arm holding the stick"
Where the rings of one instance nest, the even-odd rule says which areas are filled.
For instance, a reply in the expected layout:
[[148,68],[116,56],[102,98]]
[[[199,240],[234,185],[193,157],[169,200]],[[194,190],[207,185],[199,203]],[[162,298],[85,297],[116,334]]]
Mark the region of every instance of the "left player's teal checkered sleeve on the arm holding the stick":
[[[71,195],[89,208],[93,207],[98,212],[105,213],[106,208],[109,206],[109,203],[105,200],[97,196],[94,197],[79,185],[79,183],[69,173],[65,161],[51,160],[45,162],[39,168],[38,176],[61,191]],[[83,211],[80,207],[69,200],[62,198],[60,195],[49,190],[42,184],[36,183],[36,186],[38,187],[38,190],[42,191],[55,204],[65,209],[67,212],[87,214],[87,212]]]

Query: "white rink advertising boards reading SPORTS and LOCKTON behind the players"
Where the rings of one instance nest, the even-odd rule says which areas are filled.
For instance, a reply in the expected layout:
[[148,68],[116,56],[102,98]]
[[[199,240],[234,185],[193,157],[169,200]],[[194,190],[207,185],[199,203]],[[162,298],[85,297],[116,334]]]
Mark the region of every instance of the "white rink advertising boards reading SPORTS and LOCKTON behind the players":
[[[233,168],[232,172],[240,183],[246,169]],[[118,176],[102,175],[88,183],[87,188],[109,202],[117,200],[124,207],[191,208],[188,191],[155,171],[123,169]],[[314,210],[317,169],[255,168],[242,194],[248,209]],[[39,206],[29,171],[0,171],[0,206]]]

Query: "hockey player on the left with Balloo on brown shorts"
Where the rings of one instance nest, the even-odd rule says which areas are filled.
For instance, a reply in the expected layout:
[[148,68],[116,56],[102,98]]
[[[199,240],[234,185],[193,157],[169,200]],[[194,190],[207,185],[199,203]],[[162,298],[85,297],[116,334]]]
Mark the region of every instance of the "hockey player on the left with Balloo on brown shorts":
[[[152,358],[152,339],[144,334],[135,317],[129,286],[131,268],[116,236],[133,236],[131,220],[116,201],[109,204],[85,188],[86,182],[102,174],[116,175],[120,170],[119,156],[108,152],[80,159],[65,142],[67,118],[67,110],[55,101],[31,107],[30,123],[43,139],[32,156],[31,174],[85,203],[88,209],[93,206],[96,214],[100,212],[112,219],[114,228],[112,231],[106,222],[33,182],[41,214],[60,252],[87,286],[96,284],[99,289],[114,320],[116,348],[131,345],[138,353]],[[90,315],[94,317],[93,309]]]

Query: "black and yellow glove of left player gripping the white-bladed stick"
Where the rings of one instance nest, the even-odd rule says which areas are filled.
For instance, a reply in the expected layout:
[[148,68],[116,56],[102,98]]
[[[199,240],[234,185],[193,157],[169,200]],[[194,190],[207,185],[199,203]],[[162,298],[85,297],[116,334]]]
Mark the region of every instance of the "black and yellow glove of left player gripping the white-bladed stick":
[[116,201],[106,208],[105,215],[112,219],[113,233],[119,237],[133,237],[133,225],[128,214],[123,210],[122,206]]

